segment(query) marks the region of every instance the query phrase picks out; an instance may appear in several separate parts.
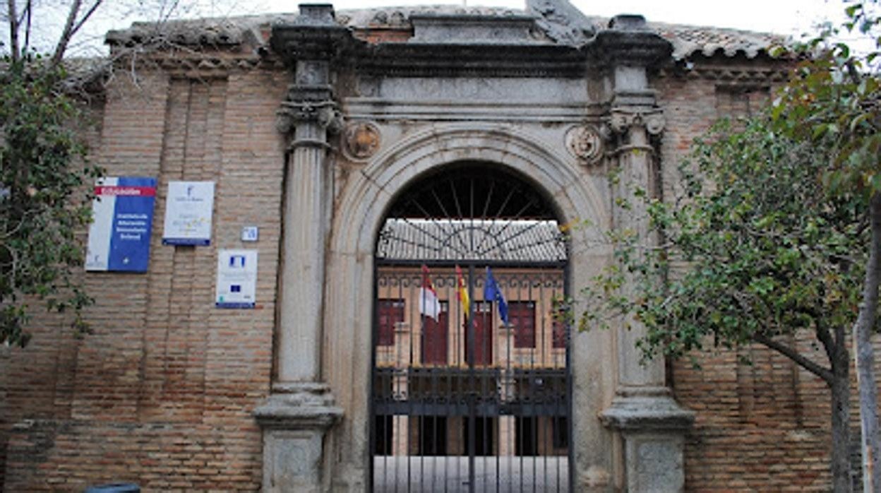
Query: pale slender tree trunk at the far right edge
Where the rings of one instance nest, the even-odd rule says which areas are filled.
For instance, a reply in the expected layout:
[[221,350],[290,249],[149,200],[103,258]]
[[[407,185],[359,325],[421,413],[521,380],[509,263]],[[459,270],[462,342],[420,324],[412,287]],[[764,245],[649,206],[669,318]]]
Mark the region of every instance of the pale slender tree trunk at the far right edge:
[[881,280],[881,193],[872,194],[870,202],[872,239],[866,278],[862,286],[860,315],[854,325],[854,357],[856,382],[860,389],[860,423],[862,429],[862,491],[881,493],[878,478],[878,415],[872,330],[875,328],[878,282]]

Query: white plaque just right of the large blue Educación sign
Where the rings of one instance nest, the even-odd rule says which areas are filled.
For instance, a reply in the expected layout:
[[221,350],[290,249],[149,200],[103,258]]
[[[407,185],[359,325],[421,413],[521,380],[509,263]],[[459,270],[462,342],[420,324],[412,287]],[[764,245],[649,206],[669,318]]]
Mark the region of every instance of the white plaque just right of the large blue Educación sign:
[[162,244],[211,244],[214,182],[169,182]]

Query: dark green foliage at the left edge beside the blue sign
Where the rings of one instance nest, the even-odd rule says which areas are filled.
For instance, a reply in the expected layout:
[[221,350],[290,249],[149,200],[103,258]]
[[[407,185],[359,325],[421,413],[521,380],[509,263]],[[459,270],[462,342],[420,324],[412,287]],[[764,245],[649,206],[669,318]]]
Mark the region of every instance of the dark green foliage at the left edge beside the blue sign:
[[81,310],[92,300],[71,273],[82,264],[91,219],[85,183],[100,168],[85,161],[77,104],[59,90],[61,68],[39,58],[5,59],[0,72],[0,342],[24,347],[33,303]]

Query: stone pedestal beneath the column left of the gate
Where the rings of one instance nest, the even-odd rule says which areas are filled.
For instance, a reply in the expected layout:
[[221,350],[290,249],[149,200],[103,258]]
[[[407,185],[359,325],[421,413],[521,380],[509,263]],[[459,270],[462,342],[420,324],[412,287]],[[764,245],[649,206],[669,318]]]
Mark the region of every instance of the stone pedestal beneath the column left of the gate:
[[324,433],[343,416],[326,385],[276,384],[254,416],[263,428],[263,493],[318,493]]

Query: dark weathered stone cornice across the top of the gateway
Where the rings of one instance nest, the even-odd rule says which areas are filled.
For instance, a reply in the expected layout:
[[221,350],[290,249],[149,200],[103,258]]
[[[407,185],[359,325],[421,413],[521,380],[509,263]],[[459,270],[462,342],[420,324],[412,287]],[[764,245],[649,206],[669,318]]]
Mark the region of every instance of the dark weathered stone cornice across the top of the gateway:
[[[272,27],[270,46],[288,66],[320,59],[377,76],[581,78],[612,65],[654,66],[672,52],[639,16],[619,16],[587,43],[569,46],[544,39],[525,16],[417,16],[410,41],[369,44],[331,22],[332,11],[314,13]],[[457,35],[462,29],[473,35]]]

